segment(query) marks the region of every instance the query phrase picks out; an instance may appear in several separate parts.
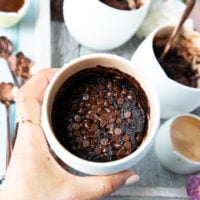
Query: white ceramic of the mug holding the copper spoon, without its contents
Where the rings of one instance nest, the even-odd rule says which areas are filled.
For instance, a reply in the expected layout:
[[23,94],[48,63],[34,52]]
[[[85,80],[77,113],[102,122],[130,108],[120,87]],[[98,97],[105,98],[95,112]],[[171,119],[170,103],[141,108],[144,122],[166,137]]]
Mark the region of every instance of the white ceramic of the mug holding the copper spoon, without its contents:
[[170,79],[155,56],[153,50],[155,36],[160,34],[166,37],[166,34],[172,31],[172,28],[173,26],[164,26],[155,29],[141,43],[131,59],[133,65],[155,87],[160,101],[161,118],[188,113],[200,106],[200,88],[188,87]]

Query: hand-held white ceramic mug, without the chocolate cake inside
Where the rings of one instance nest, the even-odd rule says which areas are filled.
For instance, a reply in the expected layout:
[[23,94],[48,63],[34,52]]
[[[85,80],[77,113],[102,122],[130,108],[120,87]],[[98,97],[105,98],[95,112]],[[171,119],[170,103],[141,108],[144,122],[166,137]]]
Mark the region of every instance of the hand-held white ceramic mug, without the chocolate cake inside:
[[[63,82],[74,73],[82,69],[96,67],[96,65],[114,67],[133,76],[145,91],[150,107],[147,135],[140,147],[129,156],[120,160],[103,163],[83,160],[70,153],[59,143],[51,125],[52,104]],[[66,64],[50,82],[42,106],[42,126],[52,150],[64,163],[87,174],[111,174],[131,167],[147,153],[154,142],[156,130],[159,126],[159,114],[159,102],[156,93],[143,76],[138,73],[138,70],[132,67],[130,61],[111,54],[91,54]]]

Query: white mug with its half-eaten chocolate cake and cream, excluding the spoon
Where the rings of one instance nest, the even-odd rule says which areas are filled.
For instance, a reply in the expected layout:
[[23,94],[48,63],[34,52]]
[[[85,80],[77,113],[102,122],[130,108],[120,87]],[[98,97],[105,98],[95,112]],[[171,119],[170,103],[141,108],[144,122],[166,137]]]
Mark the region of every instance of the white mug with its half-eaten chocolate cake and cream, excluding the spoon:
[[164,58],[161,53],[174,26],[154,30],[138,47],[132,63],[157,91],[161,118],[200,106],[200,33],[183,27]]

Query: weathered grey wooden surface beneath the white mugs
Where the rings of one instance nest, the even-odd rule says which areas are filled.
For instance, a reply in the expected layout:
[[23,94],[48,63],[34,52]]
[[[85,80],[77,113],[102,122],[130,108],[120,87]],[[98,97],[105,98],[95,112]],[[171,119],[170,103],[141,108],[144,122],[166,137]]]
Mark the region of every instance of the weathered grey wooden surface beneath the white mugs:
[[[133,36],[120,48],[107,51],[131,59],[141,39]],[[77,43],[62,22],[51,22],[52,66],[62,66],[81,55],[97,51]],[[200,115],[200,108],[195,111]],[[155,155],[154,148],[133,169],[140,175],[140,181],[116,191],[104,200],[130,199],[188,199],[185,186],[188,176],[174,174],[165,169]]]

